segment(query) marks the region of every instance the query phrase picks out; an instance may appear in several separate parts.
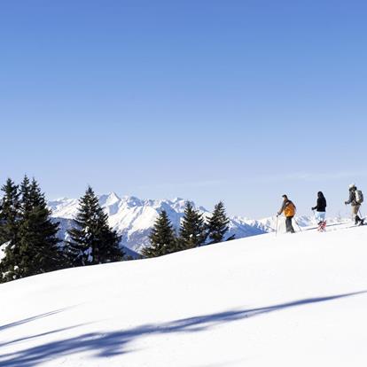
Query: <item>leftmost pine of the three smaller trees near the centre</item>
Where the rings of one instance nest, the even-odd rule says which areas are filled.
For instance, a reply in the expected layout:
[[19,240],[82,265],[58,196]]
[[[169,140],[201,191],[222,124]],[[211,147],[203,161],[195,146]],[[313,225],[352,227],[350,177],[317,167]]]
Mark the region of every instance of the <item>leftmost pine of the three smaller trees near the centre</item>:
[[156,219],[149,240],[150,246],[143,250],[145,257],[172,254],[178,250],[175,230],[165,210]]

